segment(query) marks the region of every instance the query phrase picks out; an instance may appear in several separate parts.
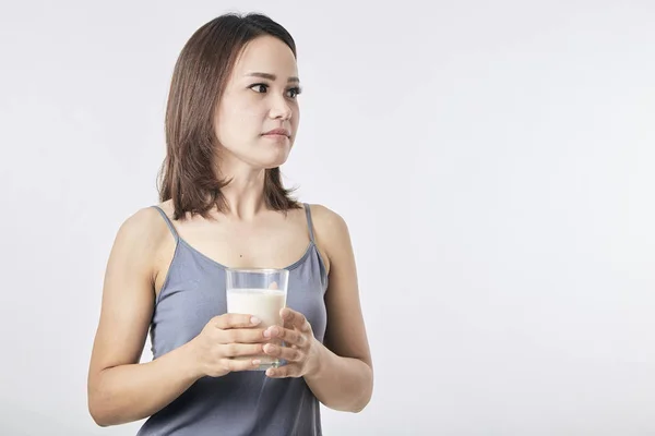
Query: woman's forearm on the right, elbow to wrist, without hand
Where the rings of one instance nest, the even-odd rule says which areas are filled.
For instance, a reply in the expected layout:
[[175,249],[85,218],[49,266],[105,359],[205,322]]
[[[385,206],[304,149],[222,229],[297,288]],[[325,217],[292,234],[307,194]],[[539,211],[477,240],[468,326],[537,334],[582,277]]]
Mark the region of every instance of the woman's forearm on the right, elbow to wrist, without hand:
[[360,412],[373,391],[373,371],[359,359],[342,358],[320,346],[315,372],[305,376],[313,395],[330,409]]

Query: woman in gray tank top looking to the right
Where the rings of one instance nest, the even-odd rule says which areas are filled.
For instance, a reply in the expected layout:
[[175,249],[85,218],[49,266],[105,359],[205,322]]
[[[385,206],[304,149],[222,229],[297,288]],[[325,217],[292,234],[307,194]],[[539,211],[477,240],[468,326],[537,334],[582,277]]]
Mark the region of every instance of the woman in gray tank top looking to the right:
[[[107,265],[88,373],[98,425],[150,416],[140,435],[320,435],[319,401],[369,402],[347,227],[281,182],[299,94],[294,39],[264,15],[222,15],[182,49],[160,204],[123,222]],[[284,328],[226,314],[226,267],[289,270]],[[148,329],[154,359],[139,363]],[[287,363],[249,371],[265,355]]]

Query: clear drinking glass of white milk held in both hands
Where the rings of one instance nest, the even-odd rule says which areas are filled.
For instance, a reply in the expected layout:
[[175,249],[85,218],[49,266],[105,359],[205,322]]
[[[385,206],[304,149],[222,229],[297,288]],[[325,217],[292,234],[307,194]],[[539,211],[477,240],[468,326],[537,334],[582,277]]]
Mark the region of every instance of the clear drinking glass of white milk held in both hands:
[[[252,315],[262,322],[258,328],[273,325],[283,326],[279,311],[286,305],[289,271],[287,269],[226,269],[227,312]],[[271,339],[271,343],[282,344],[279,339]],[[235,359],[260,359],[255,371],[278,367],[281,361],[269,355]]]

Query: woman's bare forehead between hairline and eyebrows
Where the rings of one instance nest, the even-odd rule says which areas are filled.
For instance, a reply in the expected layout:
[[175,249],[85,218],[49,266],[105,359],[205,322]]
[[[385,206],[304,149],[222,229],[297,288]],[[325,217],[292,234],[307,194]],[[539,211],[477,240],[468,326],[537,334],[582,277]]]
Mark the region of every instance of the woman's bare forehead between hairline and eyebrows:
[[282,40],[272,36],[260,36],[246,45],[237,62],[233,76],[237,80],[249,73],[271,73],[286,82],[298,75],[294,52]]

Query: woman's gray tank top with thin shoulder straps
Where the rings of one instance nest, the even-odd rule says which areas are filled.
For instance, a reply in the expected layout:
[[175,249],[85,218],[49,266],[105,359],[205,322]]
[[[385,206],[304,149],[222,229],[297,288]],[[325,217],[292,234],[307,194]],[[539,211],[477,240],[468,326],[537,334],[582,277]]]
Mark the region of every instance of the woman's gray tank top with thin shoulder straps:
[[[314,242],[309,205],[303,206],[310,243],[302,257],[286,268],[287,306],[305,314],[314,336],[323,342],[327,276]],[[153,207],[162,214],[176,241],[151,322],[153,359],[157,359],[198,336],[212,317],[227,312],[226,266],[189,245],[164,210]],[[319,401],[301,377],[273,379],[260,371],[203,377],[147,419],[138,436],[151,435],[322,435]]]

